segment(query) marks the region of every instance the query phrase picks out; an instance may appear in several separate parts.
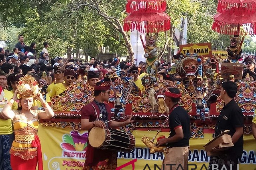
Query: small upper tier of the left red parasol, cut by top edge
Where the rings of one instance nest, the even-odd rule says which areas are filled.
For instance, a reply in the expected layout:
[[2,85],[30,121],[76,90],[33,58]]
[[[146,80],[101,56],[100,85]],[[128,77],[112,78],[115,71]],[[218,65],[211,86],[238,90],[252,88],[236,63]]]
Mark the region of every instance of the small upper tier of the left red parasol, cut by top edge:
[[141,9],[147,9],[144,12],[150,13],[151,10],[164,12],[166,10],[166,0],[128,0],[126,3],[126,12],[132,13]]

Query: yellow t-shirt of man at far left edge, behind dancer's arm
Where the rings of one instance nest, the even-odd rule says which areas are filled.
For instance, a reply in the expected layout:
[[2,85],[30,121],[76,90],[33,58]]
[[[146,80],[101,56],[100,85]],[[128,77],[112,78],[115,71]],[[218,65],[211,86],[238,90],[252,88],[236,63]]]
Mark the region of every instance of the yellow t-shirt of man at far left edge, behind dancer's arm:
[[[5,96],[4,96],[5,101],[9,101],[13,97],[13,94],[8,90],[4,90],[4,93],[5,93]],[[1,105],[0,108],[1,109],[4,108],[4,105]],[[18,104],[14,102],[12,106],[12,110],[17,110],[17,109],[18,109]],[[12,120],[0,119],[0,135],[7,135],[7,134],[12,134]]]

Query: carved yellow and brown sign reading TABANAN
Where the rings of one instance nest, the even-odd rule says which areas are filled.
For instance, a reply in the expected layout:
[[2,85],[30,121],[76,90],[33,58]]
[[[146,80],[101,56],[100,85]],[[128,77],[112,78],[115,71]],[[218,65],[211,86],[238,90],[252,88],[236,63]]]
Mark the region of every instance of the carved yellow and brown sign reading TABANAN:
[[185,44],[180,45],[182,54],[196,53],[198,56],[211,57],[211,43]]

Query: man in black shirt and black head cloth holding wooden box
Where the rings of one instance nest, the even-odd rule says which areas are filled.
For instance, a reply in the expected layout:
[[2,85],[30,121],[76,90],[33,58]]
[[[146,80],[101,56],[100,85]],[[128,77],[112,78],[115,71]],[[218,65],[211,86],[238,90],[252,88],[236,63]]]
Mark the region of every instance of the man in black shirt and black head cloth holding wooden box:
[[[220,150],[213,148],[217,153],[214,161],[210,161],[210,165],[218,164],[218,169],[236,170],[238,159],[243,153],[243,113],[241,108],[235,102],[234,97],[237,92],[237,84],[235,82],[223,82],[221,87],[221,98],[225,102],[223,109],[217,120],[214,135],[217,136],[225,130],[230,130],[228,133],[232,137],[234,147],[228,150]],[[212,167],[213,168],[213,167]]]

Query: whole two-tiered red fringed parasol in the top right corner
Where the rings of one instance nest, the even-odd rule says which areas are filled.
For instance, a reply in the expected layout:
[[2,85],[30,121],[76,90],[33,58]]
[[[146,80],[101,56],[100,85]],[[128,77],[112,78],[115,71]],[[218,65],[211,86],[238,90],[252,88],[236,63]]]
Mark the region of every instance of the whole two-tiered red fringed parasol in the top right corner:
[[256,0],[219,0],[212,29],[225,35],[256,34]]

